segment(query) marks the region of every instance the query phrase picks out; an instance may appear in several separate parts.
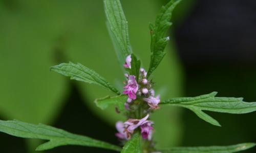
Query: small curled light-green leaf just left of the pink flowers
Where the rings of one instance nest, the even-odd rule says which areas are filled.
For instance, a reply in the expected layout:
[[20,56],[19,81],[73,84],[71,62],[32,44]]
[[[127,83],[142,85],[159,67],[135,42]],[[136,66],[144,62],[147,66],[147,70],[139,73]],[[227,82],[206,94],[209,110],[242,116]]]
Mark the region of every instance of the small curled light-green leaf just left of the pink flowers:
[[119,111],[124,110],[124,103],[127,100],[126,95],[120,95],[115,97],[106,96],[104,98],[97,98],[95,99],[95,103],[98,107],[100,107],[102,110],[105,110],[106,108],[116,105]]

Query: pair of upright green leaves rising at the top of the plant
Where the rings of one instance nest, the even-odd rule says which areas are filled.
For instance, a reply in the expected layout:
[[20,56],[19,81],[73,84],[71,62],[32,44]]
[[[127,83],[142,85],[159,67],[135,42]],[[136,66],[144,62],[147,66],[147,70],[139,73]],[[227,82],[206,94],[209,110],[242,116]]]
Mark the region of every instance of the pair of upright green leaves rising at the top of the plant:
[[[165,37],[165,33],[172,25],[169,22],[172,17],[172,12],[180,0],[172,0],[167,5],[163,6],[160,13],[157,15],[155,24],[150,25],[151,32],[151,62],[148,69],[147,77],[158,67],[166,52],[164,49],[167,45],[169,37]],[[124,16],[119,0],[104,0],[105,14],[108,19],[107,26],[111,39],[113,41],[118,60],[122,65],[125,57],[132,54],[130,45],[127,20]],[[133,55],[132,59],[136,60]],[[133,73],[133,75],[136,73]],[[137,75],[136,75],[137,76]]]

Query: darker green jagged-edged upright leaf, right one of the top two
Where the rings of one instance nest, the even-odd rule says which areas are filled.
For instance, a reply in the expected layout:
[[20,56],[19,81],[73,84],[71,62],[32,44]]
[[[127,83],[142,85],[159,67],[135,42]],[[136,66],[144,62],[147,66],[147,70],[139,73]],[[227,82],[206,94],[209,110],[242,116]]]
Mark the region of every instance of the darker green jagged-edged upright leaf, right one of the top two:
[[151,61],[150,68],[147,72],[147,77],[150,77],[152,72],[158,67],[161,60],[165,56],[166,52],[164,49],[167,45],[169,37],[165,37],[165,33],[168,28],[172,25],[169,22],[172,17],[172,12],[176,5],[181,0],[171,0],[165,6],[163,6],[157,15],[155,24],[150,24],[151,32]]

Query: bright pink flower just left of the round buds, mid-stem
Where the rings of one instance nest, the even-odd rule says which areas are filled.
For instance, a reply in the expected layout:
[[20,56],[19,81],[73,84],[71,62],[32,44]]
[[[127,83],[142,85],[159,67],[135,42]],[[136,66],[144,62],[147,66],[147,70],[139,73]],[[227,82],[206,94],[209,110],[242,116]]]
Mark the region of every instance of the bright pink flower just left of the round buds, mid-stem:
[[123,94],[128,95],[131,99],[136,99],[136,93],[139,89],[139,85],[135,79],[134,75],[130,75],[127,84],[124,86]]

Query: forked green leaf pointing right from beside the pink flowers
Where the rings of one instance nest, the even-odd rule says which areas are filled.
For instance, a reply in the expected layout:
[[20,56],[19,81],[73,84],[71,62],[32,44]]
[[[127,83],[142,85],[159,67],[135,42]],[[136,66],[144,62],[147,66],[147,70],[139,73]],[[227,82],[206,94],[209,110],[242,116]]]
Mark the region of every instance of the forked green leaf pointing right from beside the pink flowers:
[[201,119],[217,126],[220,126],[218,121],[202,112],[202,110],[230,114],[244,114],[256,111],[256,102],[244,102],[243,98],[215,97],[216,95],[217,92],[212,92],[198,97],[172,98],[160,104],[186,107],[195,112]]

